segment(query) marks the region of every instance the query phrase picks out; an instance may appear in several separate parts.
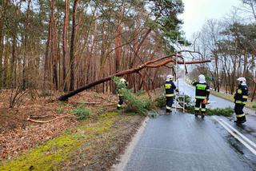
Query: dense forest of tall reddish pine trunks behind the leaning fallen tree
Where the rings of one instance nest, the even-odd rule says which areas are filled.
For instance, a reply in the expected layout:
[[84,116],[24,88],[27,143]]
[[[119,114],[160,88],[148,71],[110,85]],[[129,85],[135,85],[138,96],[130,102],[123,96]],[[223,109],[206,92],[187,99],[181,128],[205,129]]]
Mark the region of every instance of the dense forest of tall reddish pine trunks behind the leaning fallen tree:
[[[174,51],[181,1],[2,0],[0,89],[71,91]],[[134,91],[162,83],[163,69],[126,79]],[[171,72],[171,71],[170,71]],[[142,79],[145,78],[145,79]],[[142,81],[143,80],[143,81]],[[113,82],[95,86],[114,90]]]

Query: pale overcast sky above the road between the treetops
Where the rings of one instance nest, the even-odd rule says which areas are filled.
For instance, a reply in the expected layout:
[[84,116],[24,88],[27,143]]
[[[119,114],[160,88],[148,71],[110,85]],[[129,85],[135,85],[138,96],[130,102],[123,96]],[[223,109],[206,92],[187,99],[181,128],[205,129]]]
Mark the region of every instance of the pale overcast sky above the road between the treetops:
[[194,32],[201,30],[207,19],[222,18],[230,14],[233,6],[241,5],[241,0],[182,0],[184,14],[180,15],[184,24],[182,30],[190,39]]

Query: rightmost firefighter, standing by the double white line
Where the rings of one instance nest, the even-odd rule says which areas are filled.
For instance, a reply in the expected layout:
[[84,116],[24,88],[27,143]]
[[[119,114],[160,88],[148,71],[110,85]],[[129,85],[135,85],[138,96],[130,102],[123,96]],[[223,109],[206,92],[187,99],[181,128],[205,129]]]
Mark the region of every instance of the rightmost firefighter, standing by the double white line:
[[236,114],[236,123],[246,122],[246,115],[243,113],[242,109],[246,105],[248,98],[248,88],[246,85],[246,78],[238,78],[238,89],[234,94],[234,112]]

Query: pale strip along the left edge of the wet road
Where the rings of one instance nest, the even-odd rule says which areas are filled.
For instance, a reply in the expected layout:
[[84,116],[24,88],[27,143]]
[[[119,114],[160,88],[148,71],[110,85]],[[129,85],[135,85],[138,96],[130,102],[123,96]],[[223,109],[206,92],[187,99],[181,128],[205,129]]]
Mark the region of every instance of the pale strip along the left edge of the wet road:
[[146,117],[143,121],[141,127],[138,129],[137,133],[135,133],[134,137],[130,141],[129,145],[126,146],[125,152],[119,157],[120,161],[118,164],[112,165],[111,171],[122,171],[126,168],[128,161],[130,160],[130,156],[134,151],[135,146],[138,144],[139,138],[141,137],[144,129],[146,128],[147,121],[149,121],[150,117]]

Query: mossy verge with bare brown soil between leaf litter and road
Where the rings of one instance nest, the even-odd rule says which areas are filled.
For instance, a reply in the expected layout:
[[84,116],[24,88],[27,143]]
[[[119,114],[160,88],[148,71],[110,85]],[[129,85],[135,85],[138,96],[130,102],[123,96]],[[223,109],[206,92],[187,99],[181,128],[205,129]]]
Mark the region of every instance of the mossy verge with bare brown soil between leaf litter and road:
[[142,120],[118,112],[89,117],[77,128],[66,129],[62,135],[2,161],[0,170],[109,169]]

